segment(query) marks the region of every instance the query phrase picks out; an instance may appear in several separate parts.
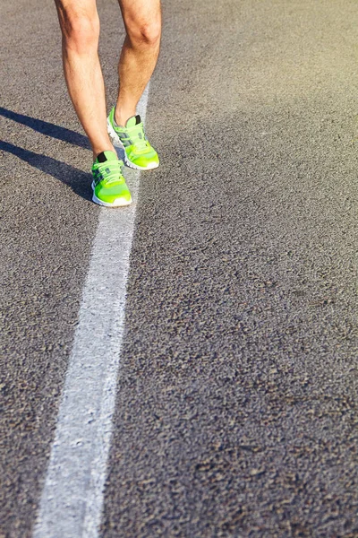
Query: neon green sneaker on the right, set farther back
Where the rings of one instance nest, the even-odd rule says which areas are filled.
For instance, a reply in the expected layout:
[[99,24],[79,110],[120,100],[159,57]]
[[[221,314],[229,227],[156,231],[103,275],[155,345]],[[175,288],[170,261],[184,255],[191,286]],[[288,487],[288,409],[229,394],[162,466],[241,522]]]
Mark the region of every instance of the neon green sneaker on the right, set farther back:
[[141,116],[132,116],[125,127],[115,123],[115,107],[107,119],[108,134],[114,143],[124,148],[124,162],[133,169],[149,170],[159,166],[158,153],[144,134]]

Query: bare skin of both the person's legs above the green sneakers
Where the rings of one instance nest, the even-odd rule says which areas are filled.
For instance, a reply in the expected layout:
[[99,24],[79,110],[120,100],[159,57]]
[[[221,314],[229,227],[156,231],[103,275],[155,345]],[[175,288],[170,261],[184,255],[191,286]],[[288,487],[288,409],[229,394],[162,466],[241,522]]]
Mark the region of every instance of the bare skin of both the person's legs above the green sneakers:
[[[107,134],[105,85],[98,58],[96,0],[55,0],[63,35],[64,77],[73,107],[88,135],[93,158],[115,152]],[[115,121],[125,126],[157,64],[160,0],[120,0],[126,37],[120,55]]]

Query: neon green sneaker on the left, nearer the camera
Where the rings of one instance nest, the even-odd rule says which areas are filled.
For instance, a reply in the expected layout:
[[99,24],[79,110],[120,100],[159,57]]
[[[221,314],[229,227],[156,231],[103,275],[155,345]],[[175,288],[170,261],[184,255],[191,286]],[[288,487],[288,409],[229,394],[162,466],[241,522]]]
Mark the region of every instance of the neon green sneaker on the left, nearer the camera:
[[107,207],[131,204],[132,196],[125,184],[123,166],[123,161],[118,161],[114,152],[99,153],[92,166],[93,202]]

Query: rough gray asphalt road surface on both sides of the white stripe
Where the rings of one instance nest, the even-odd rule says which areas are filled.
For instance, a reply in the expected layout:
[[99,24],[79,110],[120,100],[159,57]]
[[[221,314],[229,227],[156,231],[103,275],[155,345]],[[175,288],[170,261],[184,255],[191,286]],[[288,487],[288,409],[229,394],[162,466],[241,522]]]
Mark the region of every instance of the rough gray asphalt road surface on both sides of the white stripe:
[[[112,103],[124,33],[98,8]],[[358,537],[356,4],[163,15],[101,536]],[[0,19],[0,536],[24,538],[98,207],[54,6]]]

